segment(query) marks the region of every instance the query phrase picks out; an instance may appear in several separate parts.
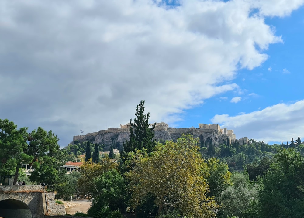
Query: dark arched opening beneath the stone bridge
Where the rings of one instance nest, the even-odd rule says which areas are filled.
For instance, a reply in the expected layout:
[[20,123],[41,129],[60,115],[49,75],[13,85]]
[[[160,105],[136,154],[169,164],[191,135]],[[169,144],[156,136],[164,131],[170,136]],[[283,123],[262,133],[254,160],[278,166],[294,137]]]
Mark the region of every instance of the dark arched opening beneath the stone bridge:
[[28,218],[33,216],[29,206],[23,201],[6,199],[0,201],[0,217]]

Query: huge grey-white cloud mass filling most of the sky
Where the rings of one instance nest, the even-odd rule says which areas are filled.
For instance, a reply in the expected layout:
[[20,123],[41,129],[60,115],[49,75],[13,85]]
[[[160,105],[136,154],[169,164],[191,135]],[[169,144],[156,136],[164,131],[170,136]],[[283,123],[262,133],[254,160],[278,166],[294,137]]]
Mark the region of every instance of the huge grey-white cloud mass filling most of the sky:
[[260,66],[282,41],[264,15],[288,15],[301,2],[4,0],[0,114],[52,129],[61,146],[80,129],[127,123],[141,99],[151,120],[173,123],[175,113],[239,89],[236,71]]

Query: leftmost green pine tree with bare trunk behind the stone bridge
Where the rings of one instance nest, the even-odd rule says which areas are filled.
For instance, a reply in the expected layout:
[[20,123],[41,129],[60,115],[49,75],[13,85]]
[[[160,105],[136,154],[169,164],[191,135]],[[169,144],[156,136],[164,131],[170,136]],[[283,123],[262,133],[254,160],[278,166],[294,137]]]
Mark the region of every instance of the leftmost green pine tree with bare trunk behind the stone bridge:
[[[17,129],[12,121],[0,119],[0,157],[2,165],[15,165],[15,177],[13,184],[16,184],[20,168],[20,162],[29,163],[33,161],[33,156],[26,154],[28,144],[26,143],[28,133],[27,128]],[[12,161],[15,160],[15,161]],[[9,172],[9,169],[6,169]]]

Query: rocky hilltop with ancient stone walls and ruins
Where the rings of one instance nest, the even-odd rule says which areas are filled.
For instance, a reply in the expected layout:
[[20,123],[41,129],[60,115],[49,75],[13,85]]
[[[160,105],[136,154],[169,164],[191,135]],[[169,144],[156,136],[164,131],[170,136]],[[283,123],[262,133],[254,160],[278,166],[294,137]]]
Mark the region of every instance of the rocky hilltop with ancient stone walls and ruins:
[[[150,124],[152,127],[154,124]],[[105,151],[113,148],[123,150],[123,142],[129,139],[130,123],[120,125],[119,128],[108,128],[107,130],[100,130],[94,133],[88,133],[86,135],[75,135],[73,142],[90,141],[91,143],[98,143],[105,145]],[[227,128],[220,128],[219,124],[199,124],[199,128],[173,128],[168,124],[161,122],[156,123],[154,128],[154,134],[157,141],[176,141],[182,134],[191,134],[193,137],[199,138],[201,145],[208,145],[212,142],[215,146],[223,144],[229,140],[229,144],[237,140],[233,130]],[[248,138],[240,138],[240,144],[247,144]]]

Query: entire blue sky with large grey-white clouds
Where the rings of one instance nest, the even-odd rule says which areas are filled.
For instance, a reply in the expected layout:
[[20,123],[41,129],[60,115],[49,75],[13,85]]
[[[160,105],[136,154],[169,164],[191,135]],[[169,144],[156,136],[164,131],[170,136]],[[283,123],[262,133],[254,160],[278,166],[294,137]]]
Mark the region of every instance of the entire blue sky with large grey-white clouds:
[[63,148],[128,123],[145,100],[151,123],[304,139],[303,5],[2,0],[0,119],[52,130]]

